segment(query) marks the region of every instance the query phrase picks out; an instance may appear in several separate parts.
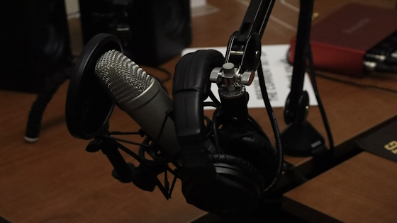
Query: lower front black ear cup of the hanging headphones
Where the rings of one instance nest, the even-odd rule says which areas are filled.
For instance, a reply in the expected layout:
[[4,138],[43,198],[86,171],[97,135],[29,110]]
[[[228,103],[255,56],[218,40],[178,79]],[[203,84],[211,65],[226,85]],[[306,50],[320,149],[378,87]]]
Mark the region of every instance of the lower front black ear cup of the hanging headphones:
[[250,210],[259,199],[264,180],[248,161],[230,154],[209,154],[216,179],[188,176],[182,181],[186,201],[208,212]]

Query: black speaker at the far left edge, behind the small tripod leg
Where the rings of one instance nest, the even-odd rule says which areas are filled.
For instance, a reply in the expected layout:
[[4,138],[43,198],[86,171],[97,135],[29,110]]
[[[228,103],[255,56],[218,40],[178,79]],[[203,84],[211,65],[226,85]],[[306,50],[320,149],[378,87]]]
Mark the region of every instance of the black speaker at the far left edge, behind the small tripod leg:
[[70,62],[64,0],[0,3],[0,88],[39,92]]

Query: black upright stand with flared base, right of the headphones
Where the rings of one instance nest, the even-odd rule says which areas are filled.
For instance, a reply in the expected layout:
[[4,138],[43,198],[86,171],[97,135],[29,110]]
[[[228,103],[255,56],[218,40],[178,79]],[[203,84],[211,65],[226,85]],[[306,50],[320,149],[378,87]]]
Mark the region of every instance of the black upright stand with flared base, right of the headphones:
[[281,144],[284,152],[291,156],[313,156],[327,150],[324,137],[306,120],[309,112],[309,97],[307,91],[303,91],[306,64],[310,53],[313,4],[313,0],[300,1],[291,92],[284,108],[284,121],[289,127],[281,132]]

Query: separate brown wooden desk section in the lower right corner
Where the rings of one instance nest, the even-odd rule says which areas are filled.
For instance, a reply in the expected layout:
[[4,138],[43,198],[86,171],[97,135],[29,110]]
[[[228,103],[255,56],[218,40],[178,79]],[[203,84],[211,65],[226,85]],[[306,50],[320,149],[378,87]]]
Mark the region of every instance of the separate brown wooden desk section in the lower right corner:
[[397,163],[367,151],[284,194],[309,222],[397,222]]

